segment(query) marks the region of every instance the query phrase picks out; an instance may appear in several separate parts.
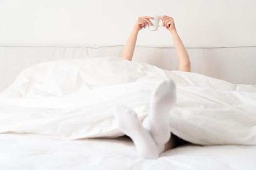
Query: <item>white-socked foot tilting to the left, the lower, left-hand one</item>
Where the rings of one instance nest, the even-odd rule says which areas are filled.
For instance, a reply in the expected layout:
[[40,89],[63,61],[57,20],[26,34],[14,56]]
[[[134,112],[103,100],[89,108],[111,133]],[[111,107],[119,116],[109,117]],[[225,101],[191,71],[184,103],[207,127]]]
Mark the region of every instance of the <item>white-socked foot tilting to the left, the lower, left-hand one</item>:
[[121,132],[129,136],[143,158],[158,158],[158,146],[150,133],[141,125],[135,112],[125,106],[115,106],[114,116]]

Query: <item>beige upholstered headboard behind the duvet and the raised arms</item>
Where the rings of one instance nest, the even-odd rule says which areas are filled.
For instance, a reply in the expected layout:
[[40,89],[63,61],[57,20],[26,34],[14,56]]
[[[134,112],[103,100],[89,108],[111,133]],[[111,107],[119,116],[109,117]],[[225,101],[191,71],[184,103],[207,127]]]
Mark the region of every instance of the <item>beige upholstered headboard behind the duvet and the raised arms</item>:
[[[23,69],[65,58],[120,57],[123,45],[0,44],[0,92],[12,84]],[[256,84],[256,47],[187,48],[191,71],[235,84]],[[177,70],[174,48],[137,46],[134,61]]]

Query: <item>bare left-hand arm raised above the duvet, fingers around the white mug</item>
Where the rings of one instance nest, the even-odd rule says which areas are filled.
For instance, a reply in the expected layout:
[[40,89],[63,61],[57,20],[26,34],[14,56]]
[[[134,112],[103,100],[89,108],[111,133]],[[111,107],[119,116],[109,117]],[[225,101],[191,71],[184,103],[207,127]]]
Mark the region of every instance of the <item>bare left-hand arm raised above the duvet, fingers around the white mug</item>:
[[133,28],[133,31],[130,34],[130,36],[124,46],[121,58],[130,60],[130,61],[132,60],[138,32],[142,28],[146,28],[147,25],[153,25],[149,19],[153,19],[153,17],[145,16],[145,17],[138,18],[138,20]]

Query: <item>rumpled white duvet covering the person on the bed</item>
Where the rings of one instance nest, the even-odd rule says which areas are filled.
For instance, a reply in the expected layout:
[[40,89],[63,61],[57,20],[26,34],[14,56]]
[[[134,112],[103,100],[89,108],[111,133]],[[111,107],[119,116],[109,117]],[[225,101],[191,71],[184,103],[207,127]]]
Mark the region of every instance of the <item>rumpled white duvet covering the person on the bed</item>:
[[152,90],[166,78],[177,85],[170,112],[174,134],[203,145],[256,145],[254,85],[115,57],[56,60],[25,69],[0,94],[0,133],[58,139],[121,136],[113,106],[124,104],[142,120]]

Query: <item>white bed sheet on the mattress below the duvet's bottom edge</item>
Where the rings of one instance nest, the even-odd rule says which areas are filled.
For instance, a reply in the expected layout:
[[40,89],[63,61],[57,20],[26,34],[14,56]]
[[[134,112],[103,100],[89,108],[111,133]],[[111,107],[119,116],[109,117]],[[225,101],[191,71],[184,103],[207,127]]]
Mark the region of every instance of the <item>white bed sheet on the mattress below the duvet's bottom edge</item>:
[[256,170],[256,146],[177,147],[138,158],[131,140],[0,134],[0,170]]

